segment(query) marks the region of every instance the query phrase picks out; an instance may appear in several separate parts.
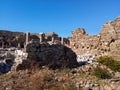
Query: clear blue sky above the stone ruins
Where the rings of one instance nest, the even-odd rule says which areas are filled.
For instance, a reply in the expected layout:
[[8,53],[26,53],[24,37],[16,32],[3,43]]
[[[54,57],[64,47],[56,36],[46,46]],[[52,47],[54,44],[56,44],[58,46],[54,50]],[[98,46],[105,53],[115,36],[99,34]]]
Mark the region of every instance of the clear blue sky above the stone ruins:
[[0,30],[68,37],[82,27],[97,34],[119,15],[120,0],[0,0]]

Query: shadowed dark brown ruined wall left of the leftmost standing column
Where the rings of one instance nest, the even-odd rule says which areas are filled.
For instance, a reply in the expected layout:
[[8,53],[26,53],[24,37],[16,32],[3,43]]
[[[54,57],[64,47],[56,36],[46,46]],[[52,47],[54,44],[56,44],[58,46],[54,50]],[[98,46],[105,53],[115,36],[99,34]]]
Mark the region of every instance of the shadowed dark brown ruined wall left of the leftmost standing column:
[[0,30],[0,47],[18,47],[23,46],[25,34],[22,32],[11,32]]

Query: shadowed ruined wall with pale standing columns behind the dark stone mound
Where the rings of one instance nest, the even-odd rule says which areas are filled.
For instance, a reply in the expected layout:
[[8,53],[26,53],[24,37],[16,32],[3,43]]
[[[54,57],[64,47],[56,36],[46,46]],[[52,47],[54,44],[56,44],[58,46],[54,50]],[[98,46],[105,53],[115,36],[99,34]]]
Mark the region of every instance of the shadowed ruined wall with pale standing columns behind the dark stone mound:
[[46,34],[22,33],[0,30],[0,48],[24,48],[29,41],[69,44],[69,40],[59,37],[56,33]]

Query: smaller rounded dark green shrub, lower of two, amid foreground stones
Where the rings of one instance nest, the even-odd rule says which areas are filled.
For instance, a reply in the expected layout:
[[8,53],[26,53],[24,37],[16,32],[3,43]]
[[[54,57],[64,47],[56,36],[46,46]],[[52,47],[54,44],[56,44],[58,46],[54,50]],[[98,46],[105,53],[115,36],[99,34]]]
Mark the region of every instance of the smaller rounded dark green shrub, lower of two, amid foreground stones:
[[97,67],[94,69],[93,75],[100,79],[109,79],[111,78],[110,73],[107,70]]

